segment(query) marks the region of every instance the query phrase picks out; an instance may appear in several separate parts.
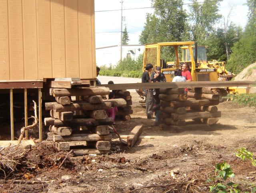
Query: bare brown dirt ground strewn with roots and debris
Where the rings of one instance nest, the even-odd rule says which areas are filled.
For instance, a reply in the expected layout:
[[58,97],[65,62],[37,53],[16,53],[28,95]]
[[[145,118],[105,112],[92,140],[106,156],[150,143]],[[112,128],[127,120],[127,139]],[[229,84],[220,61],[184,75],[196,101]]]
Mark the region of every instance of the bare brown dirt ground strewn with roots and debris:
[[[26,165],[4,179],[3,192],[208,192],[216,163],[226,162],[235,174],[238,189],[251,192],[256,185],[256,167],[235,156],[240,147],[256,154],[256,109],[230,101],[218,105],[222,117],[209,128],[163,131],[146,119],[138,96],[132,93],[131,121],[116,121],[120,134],[127,135],[143,123],[140,139],[128,149],[115,136],[110,155],[68,157],[49,143],[30,147],[22,164]],[[25,154],[24,154],[25,155]],[[30,167],[28,167],[30,166]]]

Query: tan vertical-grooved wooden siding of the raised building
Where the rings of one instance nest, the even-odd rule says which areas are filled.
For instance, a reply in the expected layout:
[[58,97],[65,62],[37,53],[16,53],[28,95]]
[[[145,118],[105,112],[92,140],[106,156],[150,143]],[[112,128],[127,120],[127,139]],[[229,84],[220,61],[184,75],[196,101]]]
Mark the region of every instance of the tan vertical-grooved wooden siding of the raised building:
[[94,0],[0,5],[0,80],[96,78]]

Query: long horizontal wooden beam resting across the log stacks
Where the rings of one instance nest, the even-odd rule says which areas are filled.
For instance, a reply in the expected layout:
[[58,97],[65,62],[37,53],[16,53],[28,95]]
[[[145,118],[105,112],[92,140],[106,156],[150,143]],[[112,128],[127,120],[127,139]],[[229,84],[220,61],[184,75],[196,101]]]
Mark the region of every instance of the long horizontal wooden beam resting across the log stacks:
[[199,82],[154,82],[154,83],[129,83],[129,84],[102,84],[110,90],[122,89],[148,89],[148,88],[195,88],[195,87],[229,87],[250,86],[255,81],[199,81]]

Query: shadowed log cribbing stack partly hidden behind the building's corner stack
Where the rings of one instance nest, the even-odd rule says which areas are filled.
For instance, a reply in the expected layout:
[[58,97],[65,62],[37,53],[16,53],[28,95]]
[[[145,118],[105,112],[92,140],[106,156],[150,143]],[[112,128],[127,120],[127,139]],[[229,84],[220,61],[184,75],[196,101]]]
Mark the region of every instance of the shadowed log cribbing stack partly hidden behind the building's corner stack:
[[132,111],[132,96],[127,90],[113,90],[115,93],[115,99],[124,99],[126,101],[126,106],[118,107],[118,111],[116,112],[116,118],[122,119],[125,121],[130,121]]

